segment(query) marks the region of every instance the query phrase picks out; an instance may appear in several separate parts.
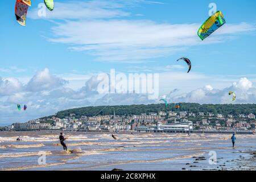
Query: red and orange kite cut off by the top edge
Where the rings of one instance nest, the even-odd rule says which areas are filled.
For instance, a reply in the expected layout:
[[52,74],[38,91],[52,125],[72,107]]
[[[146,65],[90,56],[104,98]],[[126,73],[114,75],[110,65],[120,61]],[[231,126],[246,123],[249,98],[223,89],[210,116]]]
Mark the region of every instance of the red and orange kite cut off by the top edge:
[[28,6],[31,6],[30,0],[16,0],[15,16],[18,23],[22,26],[26,26]]

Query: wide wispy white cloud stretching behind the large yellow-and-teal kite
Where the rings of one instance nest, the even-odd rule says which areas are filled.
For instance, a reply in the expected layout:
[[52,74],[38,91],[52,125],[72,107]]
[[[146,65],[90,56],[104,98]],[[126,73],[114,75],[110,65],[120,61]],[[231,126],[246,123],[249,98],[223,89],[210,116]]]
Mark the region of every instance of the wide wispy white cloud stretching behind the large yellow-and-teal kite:
[[[197,37],[200,24],[168,24],[148,20],[79,20],[58,23],[52,28],[50,42],[74,45],[73,51],[85,51],[98,61],[130,62],[165,57],[189,46],[218,43],[238,32],[251,31],[248,23],[226,24],[221,31],[201,42]],[[224,28],[224,27],[221,27]]]

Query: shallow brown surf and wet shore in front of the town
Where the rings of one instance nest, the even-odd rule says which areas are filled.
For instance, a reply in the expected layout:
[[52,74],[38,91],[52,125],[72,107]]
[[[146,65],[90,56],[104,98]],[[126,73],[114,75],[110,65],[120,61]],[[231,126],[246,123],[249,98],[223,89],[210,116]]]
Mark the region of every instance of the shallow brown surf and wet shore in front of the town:
[[[255,170],[256,136],[228,134],[0,132],[1,170]],[[16,138],[22,137],[21,141]],[[38,159],[45,154],[46,163]],[[216,154],[216,163],[211,163]]]

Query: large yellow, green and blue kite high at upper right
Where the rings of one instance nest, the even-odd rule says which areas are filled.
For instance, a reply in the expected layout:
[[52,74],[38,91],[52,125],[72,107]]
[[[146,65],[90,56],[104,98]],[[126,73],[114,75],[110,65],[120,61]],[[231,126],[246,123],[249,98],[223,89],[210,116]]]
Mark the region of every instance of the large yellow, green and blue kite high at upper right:
[[199,31],[197,32],[197,35],[201,40],[204,40],[225,23],[226,20],[221,11],[217,11],[202,24],[202,26],[199,28]]

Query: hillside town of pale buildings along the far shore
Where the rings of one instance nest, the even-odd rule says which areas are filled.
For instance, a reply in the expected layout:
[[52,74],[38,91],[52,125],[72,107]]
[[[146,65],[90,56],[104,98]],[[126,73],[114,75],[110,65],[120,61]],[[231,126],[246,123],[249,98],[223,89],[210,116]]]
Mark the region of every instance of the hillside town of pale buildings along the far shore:
[[26,123],[13,123],[2,127],[5,131],[139,131],[139,132],[243,132],[255,133],[255,115],[223,115],[212,113],[191,113],[188,111],[159,111],[140,115],[98,115],[88,117],[69,114],[65,118],[56,115],[34,119]]

